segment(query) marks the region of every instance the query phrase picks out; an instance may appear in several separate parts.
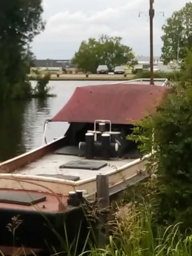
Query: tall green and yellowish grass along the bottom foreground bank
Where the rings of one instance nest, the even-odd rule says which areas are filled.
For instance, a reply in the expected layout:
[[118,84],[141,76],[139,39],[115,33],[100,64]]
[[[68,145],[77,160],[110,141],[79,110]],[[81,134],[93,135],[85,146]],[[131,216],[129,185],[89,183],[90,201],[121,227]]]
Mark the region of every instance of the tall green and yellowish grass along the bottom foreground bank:
[[[192,233],[191,236],[183,237],[179,233],[178,223],[167,228],[153,230],[152,209],[150,206],[140,205],[140,209],[134,204],[118,207],[113,215],[113,220],[108,223],[111,236],[104,248],[88,247],[88,237],[84,237],[82,252],[77,252],[77,245],[61,241],[65,247],[66,256],[191,256],[192,255]],[[66,234],[65,225],[63,232]],[[66,234],[67,236],[67,234]],[[61,238],[61,237],[60,237]],[[78,236],[77,236],[78,240]],[[63,247],[62,246],[62,247]],[[64,248],[63,247],[63,248]],[[52,256],[63,255],[63,252],[53,250]],[[3,256],[3,252],[1,252]],[[35,255],[35,253],[34,253]],[[13,255],[12,255],[13,256]],[[17,252],[14,256],[18,256]]]

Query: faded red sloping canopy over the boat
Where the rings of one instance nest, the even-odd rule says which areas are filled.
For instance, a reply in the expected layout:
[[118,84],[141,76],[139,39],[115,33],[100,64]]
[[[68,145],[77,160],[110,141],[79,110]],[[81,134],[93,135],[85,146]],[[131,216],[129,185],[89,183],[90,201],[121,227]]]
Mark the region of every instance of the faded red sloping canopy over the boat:
[[51,122],[111,120],[132,124],[141,120],[163,99],[167,87],[149,84],[102,84],[77,87],[67,104]]

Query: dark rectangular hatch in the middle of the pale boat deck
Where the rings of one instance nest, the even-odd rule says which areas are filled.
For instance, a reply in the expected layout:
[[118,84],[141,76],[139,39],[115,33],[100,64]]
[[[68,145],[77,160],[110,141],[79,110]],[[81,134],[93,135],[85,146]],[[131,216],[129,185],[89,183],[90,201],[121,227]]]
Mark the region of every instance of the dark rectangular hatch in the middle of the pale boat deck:
[[62,164],[60,168],[97,171],[107,165],[108,163],[97,162],[97,161],[70,161],[68,163]]

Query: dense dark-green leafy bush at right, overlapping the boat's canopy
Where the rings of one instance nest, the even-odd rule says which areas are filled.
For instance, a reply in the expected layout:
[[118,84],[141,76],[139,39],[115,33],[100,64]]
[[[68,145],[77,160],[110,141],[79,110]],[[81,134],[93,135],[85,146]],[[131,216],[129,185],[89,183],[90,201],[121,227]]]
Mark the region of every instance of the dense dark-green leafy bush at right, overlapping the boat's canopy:
[[[131,135],[150,157],[149,167],[157,164],[159,193],[155,218],[160,223],[182,222],[182,231],[192,228],[192,86],[177,84],[157,113],[139,122]],[[152,136],[154,134],[154,136]]]

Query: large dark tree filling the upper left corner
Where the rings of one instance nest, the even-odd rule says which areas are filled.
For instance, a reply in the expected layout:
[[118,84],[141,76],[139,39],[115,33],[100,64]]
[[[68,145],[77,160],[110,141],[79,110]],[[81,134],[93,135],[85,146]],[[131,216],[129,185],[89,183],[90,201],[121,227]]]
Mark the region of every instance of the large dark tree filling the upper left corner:
[[44,29],[42,0],[1,0],[0,102],[12,97],[16,85],[26,81],[28,45]]

